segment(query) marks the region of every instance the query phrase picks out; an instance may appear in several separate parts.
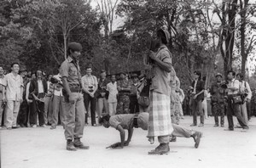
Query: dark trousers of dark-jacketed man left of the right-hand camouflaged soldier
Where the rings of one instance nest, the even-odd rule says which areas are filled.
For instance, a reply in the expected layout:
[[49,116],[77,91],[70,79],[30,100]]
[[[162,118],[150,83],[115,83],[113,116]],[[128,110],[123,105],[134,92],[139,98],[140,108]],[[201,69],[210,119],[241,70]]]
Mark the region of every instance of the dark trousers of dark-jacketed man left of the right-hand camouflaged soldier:
[[197,125],[197,114],[200,115],[200,122],[201,124],[204,124],[205,117],[201,105],[201,100],[191,99],[192,101],[192,115],[193,115],[193,124]]

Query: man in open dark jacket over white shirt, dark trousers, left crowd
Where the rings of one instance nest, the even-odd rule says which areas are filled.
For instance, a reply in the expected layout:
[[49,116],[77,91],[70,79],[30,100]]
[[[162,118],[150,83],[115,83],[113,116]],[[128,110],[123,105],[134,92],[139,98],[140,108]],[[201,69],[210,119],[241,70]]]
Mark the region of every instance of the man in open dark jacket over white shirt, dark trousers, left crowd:
[[43,79],[43,72],[37,70],[36,79],[31,81],[29,87],[29,92],[32,95],[32,110],[29,120],[33,128],[37,127],[37,120],[39,120],[39,126],[46,126],[44,122],[44,98],[47,90],[47,82]]

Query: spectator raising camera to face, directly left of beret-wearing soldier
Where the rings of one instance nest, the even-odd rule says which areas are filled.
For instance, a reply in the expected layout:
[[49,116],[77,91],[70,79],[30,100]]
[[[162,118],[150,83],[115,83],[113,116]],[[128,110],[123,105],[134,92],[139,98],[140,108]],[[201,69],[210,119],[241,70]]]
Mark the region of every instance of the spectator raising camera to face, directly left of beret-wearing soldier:
[[[61,67],[60,67],[61,68]],[[59,70],[60,70],[59,68]],[[58,74],[53,76],[57,83],[54,84],[53,95],[52,95],[52,115],[51,115],[51,126],[50,129],[55,129],[58,125],[58,119],[60,114],[61,126],[65,126],[65,115],[64,115],[64,97],[62,94],[62,81],[61,75]]]

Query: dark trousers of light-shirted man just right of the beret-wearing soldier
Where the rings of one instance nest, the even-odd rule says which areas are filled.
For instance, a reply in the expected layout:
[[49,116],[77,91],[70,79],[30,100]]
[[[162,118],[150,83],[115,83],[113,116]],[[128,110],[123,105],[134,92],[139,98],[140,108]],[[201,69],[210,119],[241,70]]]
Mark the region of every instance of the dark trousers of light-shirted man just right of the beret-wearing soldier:
[[88,124],[88,109],[90,104],[90,118],[91,125],[96,124],[95,109],[96,109],[96,98],[91,98],[90,94],[84,92],[84,106],[86,109],[85,123]]

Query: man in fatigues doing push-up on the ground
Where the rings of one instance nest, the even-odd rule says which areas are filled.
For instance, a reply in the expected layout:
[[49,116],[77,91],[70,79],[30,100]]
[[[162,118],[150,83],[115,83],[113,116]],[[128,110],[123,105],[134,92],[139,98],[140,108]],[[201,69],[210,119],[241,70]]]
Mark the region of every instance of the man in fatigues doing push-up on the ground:
[[[124,148],[131,142],[133,128],[142,128],[148,130],[148,113],[137,113],[137,114],[124,114],[124,115],[102,115],[100,118],[100,124],[108,128],[109,126],[117,129],[120,133],[121,142],[113,143],[107,148]],[[201,141],[201,132],[193,131],[185,126],[172,124],[173,132],[172,136],[175,137],[193,137],[195,141],[195,148],[199,147]],[[128,130],[128,138],[125,141],[125,130]]]

